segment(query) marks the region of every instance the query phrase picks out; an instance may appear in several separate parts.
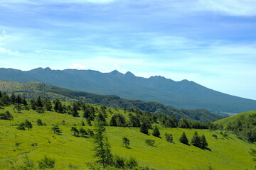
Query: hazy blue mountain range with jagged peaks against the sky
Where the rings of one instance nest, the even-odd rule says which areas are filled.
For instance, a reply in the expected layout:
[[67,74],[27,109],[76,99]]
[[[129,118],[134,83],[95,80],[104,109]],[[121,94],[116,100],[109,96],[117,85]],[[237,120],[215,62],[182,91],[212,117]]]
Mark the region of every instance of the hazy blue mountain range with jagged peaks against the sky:
[[92,70],[52,70],[50,68],[21,71],[0,69],[0,80],[40,81],[43,83],[86,91],[93,94],[117,95],[127,99],[157,101],[176,108],[204,108],[212,113],[241,113],[256,110],[256,101],[223,94],[193,81],[173,81],[155,76],[136,77],[131,72],[116,70],[102,73]]

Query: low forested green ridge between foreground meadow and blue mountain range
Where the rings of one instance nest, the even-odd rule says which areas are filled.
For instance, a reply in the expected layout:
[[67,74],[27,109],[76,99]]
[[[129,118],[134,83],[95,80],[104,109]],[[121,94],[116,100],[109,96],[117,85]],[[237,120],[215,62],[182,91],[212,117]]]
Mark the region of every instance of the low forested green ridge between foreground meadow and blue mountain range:
[[166,115],[176,115],[177,118],[185,116],[191,120],[198,120],[201,122],[213,122],[224,118],[222,115],[215,115],[206,110],[186,110],[177,109],[171,106],[164,106],[157,102],[144,102],[138,100],[127,100],[119,98],[118,96],[103,96],[97,94],[90,94],[81,91],[71,91],[68,89],[51,86],[40,82],[25,82],[19,83],[14,81],[0,81],[0,91],[7,94],[19,94],[25,98],[59,98],[61,101],[84,101],[85,103],[92,103],[97,105],[109,106],[113,108],[139,108],[142,111],[149,111],[151,113],[164,113]]

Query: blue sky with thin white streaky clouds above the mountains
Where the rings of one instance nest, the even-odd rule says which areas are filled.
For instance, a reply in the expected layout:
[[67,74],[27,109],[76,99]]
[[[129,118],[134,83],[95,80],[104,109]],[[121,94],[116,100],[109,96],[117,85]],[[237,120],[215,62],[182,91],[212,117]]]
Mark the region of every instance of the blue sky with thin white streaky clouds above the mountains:
[[255,0],[0,0],[0,67],[188,79],[256,99]]

